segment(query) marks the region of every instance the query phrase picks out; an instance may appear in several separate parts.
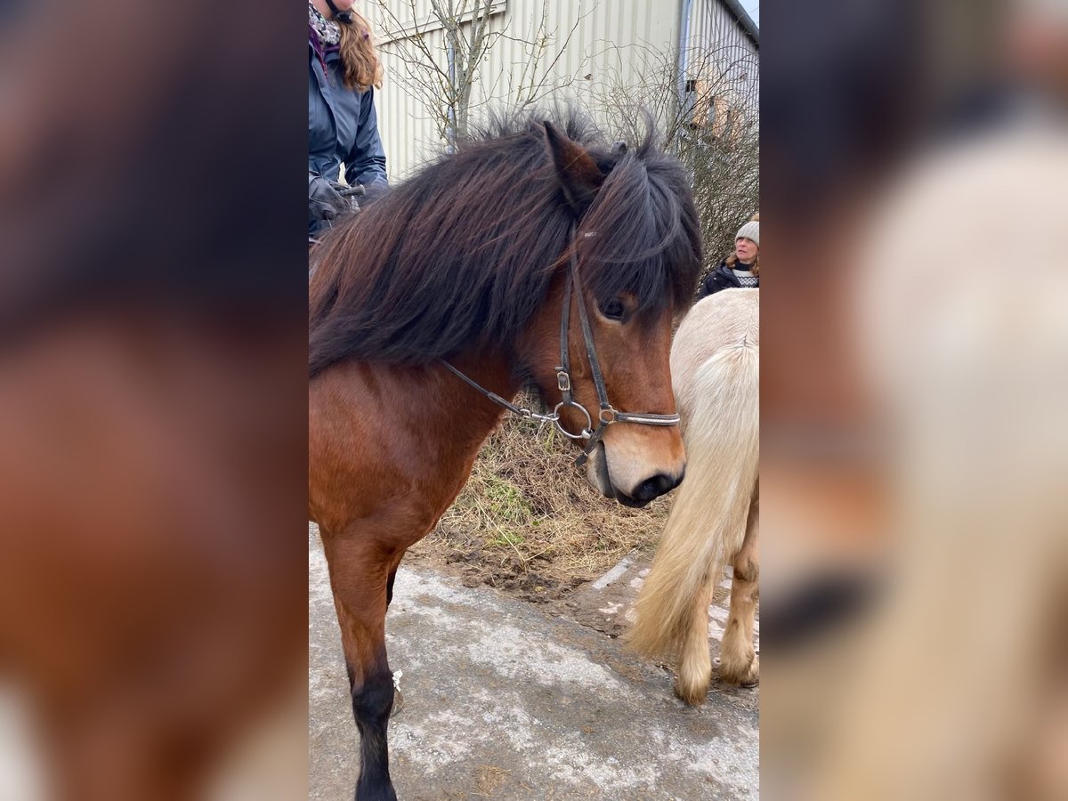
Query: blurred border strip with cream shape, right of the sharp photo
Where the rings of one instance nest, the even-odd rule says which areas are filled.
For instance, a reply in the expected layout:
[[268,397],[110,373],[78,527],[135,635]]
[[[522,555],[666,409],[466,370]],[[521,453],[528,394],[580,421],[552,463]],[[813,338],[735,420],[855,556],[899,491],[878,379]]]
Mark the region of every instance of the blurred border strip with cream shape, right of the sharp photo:
[[848,7],[764,13],[761,791],[1068,798],[1068,9]]

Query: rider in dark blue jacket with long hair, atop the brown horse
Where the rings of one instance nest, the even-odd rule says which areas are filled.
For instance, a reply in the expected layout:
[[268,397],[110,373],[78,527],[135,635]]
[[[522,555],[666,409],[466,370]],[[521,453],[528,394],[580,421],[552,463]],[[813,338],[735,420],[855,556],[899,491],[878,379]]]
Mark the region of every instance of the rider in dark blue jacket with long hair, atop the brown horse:
[[345,180],[367,195],[387,187],[386,153],[378,137],[375,90],[382,69],[367,21],[352,0],[308,3],[308,226],[328,227],[349,208],[330,186],[342,163]]

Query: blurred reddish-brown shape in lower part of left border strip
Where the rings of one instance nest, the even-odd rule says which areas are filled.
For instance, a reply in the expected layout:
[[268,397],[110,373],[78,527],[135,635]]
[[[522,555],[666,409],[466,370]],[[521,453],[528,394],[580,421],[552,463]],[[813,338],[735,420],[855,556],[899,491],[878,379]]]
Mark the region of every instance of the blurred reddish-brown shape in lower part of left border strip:
[[0,364],[0,637],[60,798],[195,795],[301,676],[307,578],[279,523],[299,532],[281,460],[302,454],[274,436],[300,409],[262,402],[284,351],[221,344],[85,318]]

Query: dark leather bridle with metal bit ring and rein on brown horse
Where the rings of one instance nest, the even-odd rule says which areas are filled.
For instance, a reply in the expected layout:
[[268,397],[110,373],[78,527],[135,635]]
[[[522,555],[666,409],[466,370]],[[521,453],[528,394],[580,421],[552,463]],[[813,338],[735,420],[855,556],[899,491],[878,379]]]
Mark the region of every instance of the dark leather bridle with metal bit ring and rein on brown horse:
[[[594,236],[593,232],[586,232],[584,236]],[[571,241],[575,241],[575,226],[571,226]],[[582,325],[582,339],[586,345],[586,356],[590,359],[590,368],[593,373],[594,387],[597,390],[597,400],[600,404],[600,409],[597,412],[597,428],[593,427],[594,421],[593,415],[590,410],[586,409],[582,404],[575,399],[571,394],[571,362],[570,352],[568,347],[568,336],[567,329],[568,323],[571,318],[571,292],[575,292],[576,304],[579,308],[579,321]],[[563,313],[560,318],[560,366],[556,367],[556,387],[563,396],[563,399],[556,404],[550,414],[539,414],[538,412],[532,411],[520,406],[506,400],[505,398],[498,395],[496,392],[490,392],[484,387],[480,386],[475,381],[472,381],[466,375],[460,373],[456,367],[454,367],[449,362],[442,360],[442,363],[453,372],[454,375],[464,379],[474,389],[478,390],[483,395],[488,397],[494,404],[503,406],[508,411],[518,414],[521,418],[527,418],[528,420],[537,420],[539,422],[552,423],[556,426],[556,430],[563,434],[565,437],[570,439],[584,439],[586,440],[585,447],[582,449],[582,453],[575,460],[576,466],[582,467],[586,459],[590,458],[591,452],[600,442],[601,437],[604,435],[604,429],[608,428],[613,423],[639,423],[641,425],[678,425],[679,418],[678,414],[638,414],[633,412],[617,411],[612,407],[612,404],[608,400],[608,390],[604,387],[604,377],[601,374],[600,362],[597,359],[597,350],[594,348],[594,333],[593,329],[590,327],[590,317],[586,314],[586,305],[582,301],[582,288],[579,284],[579,262],[576,255],[576,249],[571,248],[570,257],[570,268],[564,276],[564,308]],[[577,409],[586,419],[586,424],[578,434],[572,434],[567,430],[563,424],[560,422],[560,410],[565,407],[571,407]]]

